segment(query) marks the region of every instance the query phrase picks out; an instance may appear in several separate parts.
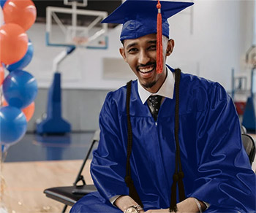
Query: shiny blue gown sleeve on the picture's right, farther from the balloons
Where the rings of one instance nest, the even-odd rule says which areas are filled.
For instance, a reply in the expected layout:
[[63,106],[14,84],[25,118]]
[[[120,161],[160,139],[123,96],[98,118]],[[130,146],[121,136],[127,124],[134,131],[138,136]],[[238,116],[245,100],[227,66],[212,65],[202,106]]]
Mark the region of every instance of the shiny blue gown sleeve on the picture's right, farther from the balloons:
[[[197,179],[189,196],[212,206],[255,212],[255,173],[241,142],[238,115],[214,83],[206,110],[197,113]],[[228,211],[227,211],[228,212]]]

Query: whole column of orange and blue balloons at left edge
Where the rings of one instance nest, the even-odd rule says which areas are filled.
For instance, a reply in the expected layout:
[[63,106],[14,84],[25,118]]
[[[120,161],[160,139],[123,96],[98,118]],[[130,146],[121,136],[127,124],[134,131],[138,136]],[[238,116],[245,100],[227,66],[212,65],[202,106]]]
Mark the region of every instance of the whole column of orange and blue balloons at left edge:
[[[0,0],[0,152],[22,139],[34,113],[37,81],[24,71],[34,47],[26,31],[37,9],[31,0]],[[4,78],[4,69],[10,71]],[[0,159],[1,160],[1,159]]]

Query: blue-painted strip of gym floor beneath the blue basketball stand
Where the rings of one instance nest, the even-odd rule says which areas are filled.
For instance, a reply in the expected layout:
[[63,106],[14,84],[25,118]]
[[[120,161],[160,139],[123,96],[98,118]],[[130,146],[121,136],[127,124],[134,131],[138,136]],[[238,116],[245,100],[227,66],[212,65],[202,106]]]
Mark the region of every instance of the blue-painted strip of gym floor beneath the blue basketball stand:
[[94,132],[69,133],[64,136],[39,136],[27,133],[7,150],[5,162],[83,159]]

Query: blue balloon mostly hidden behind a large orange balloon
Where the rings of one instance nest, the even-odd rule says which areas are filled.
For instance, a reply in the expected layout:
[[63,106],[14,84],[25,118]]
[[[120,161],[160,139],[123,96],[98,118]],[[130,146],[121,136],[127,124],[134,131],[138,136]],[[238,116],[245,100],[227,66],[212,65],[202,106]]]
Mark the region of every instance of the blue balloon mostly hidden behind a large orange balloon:
[[33,58],[33,53],[34,47],[32,42],[29,40],[28,50],[26,51],[26,54],[23,56],[23,58],[21,58],[20,61],[17,61],[16,63],[12,63],[9,66],[7,66],[7,69],[9,71],[13,71],[15,69],[23,69],[24,67],[28,66]]

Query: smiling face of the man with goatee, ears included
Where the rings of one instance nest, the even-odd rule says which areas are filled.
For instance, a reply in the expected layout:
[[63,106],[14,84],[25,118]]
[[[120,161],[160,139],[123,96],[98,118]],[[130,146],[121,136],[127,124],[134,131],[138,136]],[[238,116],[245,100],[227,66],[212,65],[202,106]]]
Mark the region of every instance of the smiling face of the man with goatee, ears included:
[[[164,39],[163,58],[173,51],[173,40]],[[140,85],[151,93],[156,93],[165,81],[165,66],[161,74],[157,74],[157,35],[148,34],[138,39],[124,40],[120,53],[140,81]]]

